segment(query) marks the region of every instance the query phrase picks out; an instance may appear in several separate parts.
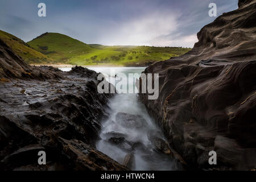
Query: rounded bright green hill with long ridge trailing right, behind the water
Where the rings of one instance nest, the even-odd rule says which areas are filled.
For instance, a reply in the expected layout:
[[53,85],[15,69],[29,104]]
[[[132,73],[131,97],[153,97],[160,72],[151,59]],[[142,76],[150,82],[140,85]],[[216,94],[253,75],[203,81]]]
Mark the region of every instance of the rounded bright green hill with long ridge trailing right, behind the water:
[[190,50],[181,47],[88,45],[63,34],[48,32],[27,44],[56,63],[72,65],[147,65]]

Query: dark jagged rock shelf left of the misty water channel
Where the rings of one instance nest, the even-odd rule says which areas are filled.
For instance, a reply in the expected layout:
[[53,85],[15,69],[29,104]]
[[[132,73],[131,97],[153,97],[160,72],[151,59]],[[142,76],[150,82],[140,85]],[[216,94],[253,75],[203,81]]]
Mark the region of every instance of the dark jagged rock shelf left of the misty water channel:
[[0,40],[0,169],[126,170],[94,148],[112,96],[97,92],[97,75],[30,67]]

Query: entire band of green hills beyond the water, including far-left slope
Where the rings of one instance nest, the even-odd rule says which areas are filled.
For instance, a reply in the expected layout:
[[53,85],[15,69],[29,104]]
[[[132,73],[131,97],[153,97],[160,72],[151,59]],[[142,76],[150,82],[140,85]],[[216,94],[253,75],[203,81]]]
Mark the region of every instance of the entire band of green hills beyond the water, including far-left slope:
[[14,35],[0,31],[0,39],[30,64],[148,65],[191,50],[181,47],[85,44],[67,35],[48,32],[25,43]]

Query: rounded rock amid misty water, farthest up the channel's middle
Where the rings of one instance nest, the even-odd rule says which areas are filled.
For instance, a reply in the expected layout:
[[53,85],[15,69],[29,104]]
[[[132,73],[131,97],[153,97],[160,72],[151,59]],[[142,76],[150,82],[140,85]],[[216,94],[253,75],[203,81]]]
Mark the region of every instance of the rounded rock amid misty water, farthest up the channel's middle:
[[115,121],[128,129],[143,129],[147,121],[141,115],[117,113]]

